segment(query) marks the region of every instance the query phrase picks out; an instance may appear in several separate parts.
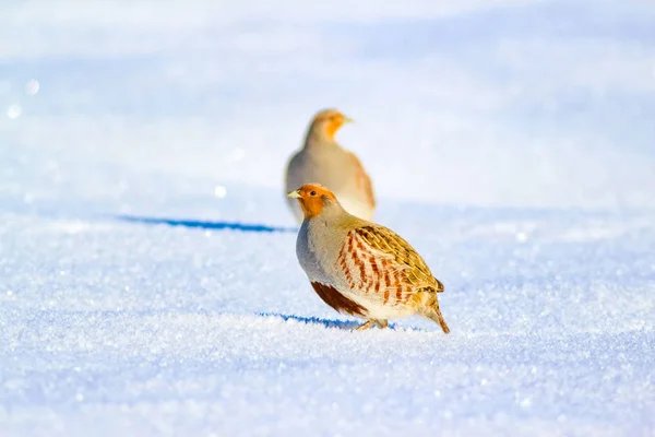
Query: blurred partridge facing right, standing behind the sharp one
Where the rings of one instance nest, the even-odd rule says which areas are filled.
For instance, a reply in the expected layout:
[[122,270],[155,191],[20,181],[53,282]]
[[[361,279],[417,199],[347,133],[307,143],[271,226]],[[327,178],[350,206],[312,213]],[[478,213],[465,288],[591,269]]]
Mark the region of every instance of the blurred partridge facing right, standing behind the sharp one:
[[[286,191],[303,184],[317,182],[330,187],[350,214],[373,220],[376,199],[369,175],[359,158],[335,140],[336,131],[353,120],[335,109],[318,113],[311,121],[303,147],[295,153],[286,168]],[[287,199],[298,223],[302,211]]]

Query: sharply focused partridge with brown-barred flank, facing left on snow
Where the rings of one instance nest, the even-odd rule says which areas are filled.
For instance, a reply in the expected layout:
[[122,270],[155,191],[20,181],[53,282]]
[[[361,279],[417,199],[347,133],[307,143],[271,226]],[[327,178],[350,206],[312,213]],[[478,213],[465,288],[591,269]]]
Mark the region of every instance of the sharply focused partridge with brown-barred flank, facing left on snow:
[[439,282],[416,250],[393,231],[344,210],[326,187],[306,184],[287,193],[305,220],[296,255],[311,286],[342,314],[366,319],[357,330],[418,314],[450,329],[441,316]]

